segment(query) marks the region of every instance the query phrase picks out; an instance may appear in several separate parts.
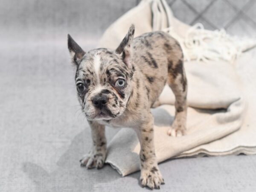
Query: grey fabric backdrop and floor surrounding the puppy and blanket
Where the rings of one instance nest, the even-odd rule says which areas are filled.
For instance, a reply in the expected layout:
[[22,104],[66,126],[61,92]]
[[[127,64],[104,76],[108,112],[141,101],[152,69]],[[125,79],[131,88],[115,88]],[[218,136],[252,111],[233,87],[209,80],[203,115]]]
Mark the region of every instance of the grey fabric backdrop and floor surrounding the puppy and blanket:
[[[145,191],[140,173],[80,168],[90,129],[79,110],[67,33],[84,48],[138,0],[0,0],[0,191]],[[175,16],[255,37],[255,0],[168,0]],[[118,129],[108,129],[108,140]],[[162,191],[256,191],[256,156],[160,164]]]

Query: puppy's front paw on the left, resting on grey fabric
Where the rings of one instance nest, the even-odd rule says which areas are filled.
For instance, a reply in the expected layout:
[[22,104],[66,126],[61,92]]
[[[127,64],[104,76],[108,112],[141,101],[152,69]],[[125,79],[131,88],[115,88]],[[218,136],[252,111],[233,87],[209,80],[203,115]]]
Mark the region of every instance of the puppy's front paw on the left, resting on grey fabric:
[[106,152],[91,151],[89,154],[84,155],[80,160],[81,166],[86,166],[88,169],[103,167],[106,158]]

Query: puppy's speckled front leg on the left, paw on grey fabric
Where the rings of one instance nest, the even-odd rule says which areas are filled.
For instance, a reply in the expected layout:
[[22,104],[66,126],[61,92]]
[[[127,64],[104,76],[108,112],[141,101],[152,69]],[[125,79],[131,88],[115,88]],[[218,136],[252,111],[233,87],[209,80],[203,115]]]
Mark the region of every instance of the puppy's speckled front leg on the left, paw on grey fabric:
[[102,168],[107,154],[105,126],[96,121],[88,121],[91,128],[93,146],[90,152],[80,160],[81,166],[87,168]]

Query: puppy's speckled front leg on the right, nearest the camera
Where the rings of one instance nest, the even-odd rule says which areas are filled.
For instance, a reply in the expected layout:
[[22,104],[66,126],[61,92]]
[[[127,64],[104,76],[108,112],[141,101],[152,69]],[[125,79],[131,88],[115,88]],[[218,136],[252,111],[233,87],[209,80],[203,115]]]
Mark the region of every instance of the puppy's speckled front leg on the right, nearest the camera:
[[160,189],[160,184],[164,184],[163,177],[157,166],[157,159],[154,150],[154,117],[150,115],[143,120],[139,128],[136,129],[140,140],[140,181],[142,186],[150,189]]

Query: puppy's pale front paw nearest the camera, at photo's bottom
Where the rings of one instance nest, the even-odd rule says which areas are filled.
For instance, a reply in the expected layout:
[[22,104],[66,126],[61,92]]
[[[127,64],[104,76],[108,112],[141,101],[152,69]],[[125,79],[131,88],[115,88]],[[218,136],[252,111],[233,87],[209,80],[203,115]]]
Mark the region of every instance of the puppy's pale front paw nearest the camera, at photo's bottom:
[[140,182],[143,187],[148,186],[150,189],[160,189],[160,185],[164,184],[162,174],[157,166],[151,169],[142,169]]

